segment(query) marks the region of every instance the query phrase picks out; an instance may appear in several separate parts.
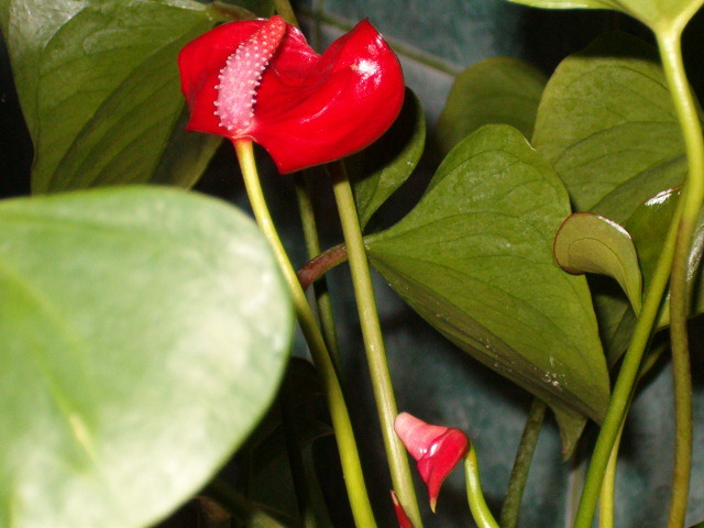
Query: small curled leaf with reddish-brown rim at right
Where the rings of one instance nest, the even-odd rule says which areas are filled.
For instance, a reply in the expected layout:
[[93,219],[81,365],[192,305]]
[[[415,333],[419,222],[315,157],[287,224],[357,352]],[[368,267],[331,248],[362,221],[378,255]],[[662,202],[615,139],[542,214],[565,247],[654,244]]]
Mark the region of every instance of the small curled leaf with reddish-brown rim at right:
[[570,215],[552,246],[556,262],[565,272],[597,273],[615,278],[638,314],[641,305],[640,267],[628,231],[591,212]]

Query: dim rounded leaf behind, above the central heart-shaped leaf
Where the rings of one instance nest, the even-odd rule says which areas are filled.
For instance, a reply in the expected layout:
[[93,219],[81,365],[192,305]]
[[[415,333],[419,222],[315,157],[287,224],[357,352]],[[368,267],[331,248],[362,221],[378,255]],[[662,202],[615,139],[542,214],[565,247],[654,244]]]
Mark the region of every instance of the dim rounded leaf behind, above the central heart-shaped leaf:
[[546,76],[530,63],[493,57],[474,64],[454,80],[436,136],[447,154],[484,124],[510,124],[532,135]]

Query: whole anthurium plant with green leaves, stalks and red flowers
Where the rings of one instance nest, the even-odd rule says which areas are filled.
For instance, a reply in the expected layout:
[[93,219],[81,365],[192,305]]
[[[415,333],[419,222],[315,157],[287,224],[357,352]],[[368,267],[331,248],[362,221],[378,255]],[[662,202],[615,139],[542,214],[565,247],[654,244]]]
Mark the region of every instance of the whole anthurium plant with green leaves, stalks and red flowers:
[[[0,201],[0,528],[421,528],[460,463],[453,526],[515,528],[546,416],[556,459],[585,468],[569,525],[613,528],[624,425],[662,362],[675,442],[659,518],[701,526],[688,326],[704,311],[704,140],[681,37],[704,0],[515,1],[610,10],[652,43],[604,34],[553,72],[470,66],[427,142],[373,20],[314,50],[286,0],[0,3],[34,148],[26,188],[3,174],[23,196]],[[193,189],[228,151],[245,211]],[[282,180],[294,218],[266,191]],[[419,198],[385,216],[407,182]],[[338,266],[349,280],[328,280]],[[531,396],[503,504],[470,431],[398,408],[372,270]],[[353,407],[345,295],[370,408]],[[200,520],[177,524],[184,504]]]

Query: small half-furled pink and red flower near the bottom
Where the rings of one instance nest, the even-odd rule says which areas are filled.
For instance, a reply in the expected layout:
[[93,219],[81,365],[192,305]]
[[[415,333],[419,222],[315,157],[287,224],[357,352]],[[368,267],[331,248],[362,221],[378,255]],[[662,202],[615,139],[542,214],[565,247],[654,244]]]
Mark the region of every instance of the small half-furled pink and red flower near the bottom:
[[466,453],[470,440],[459,429],[431,426],[408,413],[396,417],[394,429],[418,461],[418,473],[428,486],[430,508],[435,512],[440,486]]

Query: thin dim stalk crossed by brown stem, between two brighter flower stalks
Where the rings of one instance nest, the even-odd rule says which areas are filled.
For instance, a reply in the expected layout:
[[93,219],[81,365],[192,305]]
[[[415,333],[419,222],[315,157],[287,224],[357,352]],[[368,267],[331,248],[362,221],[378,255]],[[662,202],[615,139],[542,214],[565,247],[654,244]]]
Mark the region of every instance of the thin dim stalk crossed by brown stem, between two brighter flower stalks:
[[[320,239],[318,238],[318,226],[316,224],[316,213],[310,199],[310,185],[307,175],[297,174],[295,176],[296,198],[298,199],[298,211],[300,213],[300,223],[304,228],[304,239],[306,241],[306,250],[308,258],[312,260],[320,255]],[[305,289],[305,287],[304,287]],[[338,332],[334,324],[334,316],[332,314],[332,302],[330,293],[328,292],[328,282],[321,276],[314,283],[314,298],[318,308],[318,319],[322,337],[330,351],[332,363],[338,372],[341,372],[340,351],[338,345]]]

